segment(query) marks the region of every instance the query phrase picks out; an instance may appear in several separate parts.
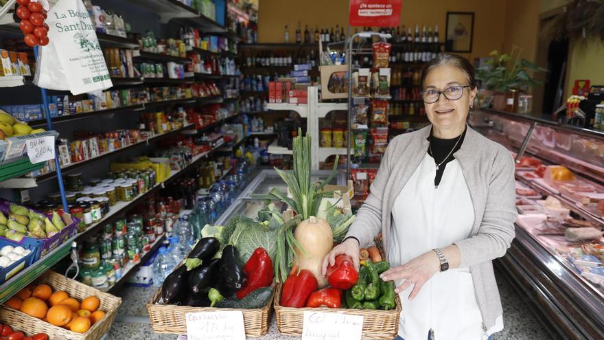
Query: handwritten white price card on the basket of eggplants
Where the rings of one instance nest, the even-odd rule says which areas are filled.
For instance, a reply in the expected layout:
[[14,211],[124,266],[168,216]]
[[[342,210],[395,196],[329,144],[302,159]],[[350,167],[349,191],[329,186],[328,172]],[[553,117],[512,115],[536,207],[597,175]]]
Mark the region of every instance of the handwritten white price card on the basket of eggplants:
[[187,313],[185,317],[187,340],[246,340],[240,310]]

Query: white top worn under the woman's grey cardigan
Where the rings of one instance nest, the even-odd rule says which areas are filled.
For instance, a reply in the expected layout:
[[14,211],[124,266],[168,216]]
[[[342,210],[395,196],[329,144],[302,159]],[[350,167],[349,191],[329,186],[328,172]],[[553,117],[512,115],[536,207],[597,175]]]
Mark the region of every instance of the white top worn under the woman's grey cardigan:
[[[388,247],[391,267],[434,248],[448,247],[472,231],[474,206],[459,162],[454,159],[447,163],[438,188],[434,187],[435,175],[434,159],[426,153],[395,200]],[[402,282],[395,282],[396,286]],[[474,281],[467,267],[435,273],[409,301],[412,290],[413,285],[399,293],[399,336],[405,340],[426,340],[430,329],[437,340],[479,340],[503,329],[500,316],[496,326],[483,330]]]

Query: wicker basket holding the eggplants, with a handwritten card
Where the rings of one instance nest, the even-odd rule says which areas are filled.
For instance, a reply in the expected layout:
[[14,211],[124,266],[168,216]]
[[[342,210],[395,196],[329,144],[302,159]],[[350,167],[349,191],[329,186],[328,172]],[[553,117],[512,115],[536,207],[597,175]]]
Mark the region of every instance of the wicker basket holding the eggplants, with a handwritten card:
[[240,309],[240,308],[210,308],[174,306],[172,304],[157,304],[161,288],[157,290],[151,301],[147,304],[151,327],[157,333],[163,334],[187,334],[187,313],[216,312],[218,310],[241,310],[247,337],[262,337],[268,332],[270,326],[270,314],[272,312],[272,299],[275,297],[275,283],[266,306],[262,308]]

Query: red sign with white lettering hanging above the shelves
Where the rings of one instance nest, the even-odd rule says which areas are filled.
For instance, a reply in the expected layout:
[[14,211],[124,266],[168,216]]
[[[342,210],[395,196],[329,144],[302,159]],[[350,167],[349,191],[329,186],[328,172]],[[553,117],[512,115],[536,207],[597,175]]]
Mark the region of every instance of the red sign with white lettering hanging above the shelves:
[[402,0],[350,0],[351,26],[395,27],[401,21]]

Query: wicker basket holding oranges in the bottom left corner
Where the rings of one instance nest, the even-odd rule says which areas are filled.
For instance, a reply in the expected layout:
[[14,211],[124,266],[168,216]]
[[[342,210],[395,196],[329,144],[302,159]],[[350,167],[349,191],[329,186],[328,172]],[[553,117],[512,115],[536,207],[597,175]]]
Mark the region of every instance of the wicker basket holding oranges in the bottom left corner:
[[100,299],[101,304],[99,309],[106,312],[105,317],[94,324],[85,333],[76,333],[66,330],[65,328],[53,326],[46,321],[30,317],[19,310],[14,310],[6,306],[0,306],[0,320],[6,324],[10,324],[15,329],[23,330],[23,332],[33,335],[39,332],[45,332],[50,340],[98,340],[100,339],[113,324],[113,319],[117,315],[117,309],[121,304],[121,298],[111,294],[102,293],[91,286],[86,286],[75,280],[67,279],[65,276],[47,271],[36,280],[37,284],[49,284],[55,291],[66,291],[69,296],[75,297],[82,301],[89,296],[96,296]]

